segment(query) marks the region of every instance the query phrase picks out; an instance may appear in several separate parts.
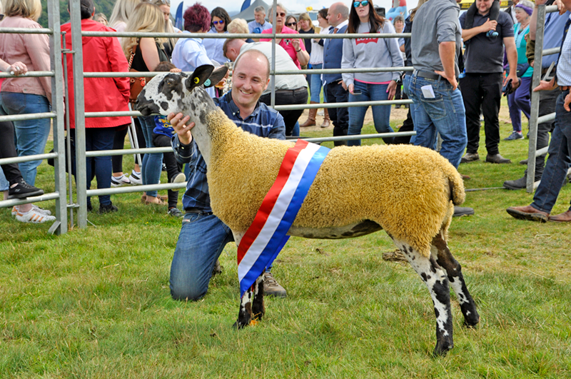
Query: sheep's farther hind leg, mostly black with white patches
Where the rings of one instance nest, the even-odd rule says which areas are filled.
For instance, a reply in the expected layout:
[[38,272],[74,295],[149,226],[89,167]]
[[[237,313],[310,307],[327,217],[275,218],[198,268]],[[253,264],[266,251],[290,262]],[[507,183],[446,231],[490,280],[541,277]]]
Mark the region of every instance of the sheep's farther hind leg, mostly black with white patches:
[[450,249],[448,248],[448,244],[446,243],[442,232],[438,233],[438,235],[433,238],[433,247],[437,250],[436,263],[445,269],[448,274],[450,287],[454,290],[454,293],[458,298],[458,303],[460,303],[460,309],[464,315],[464,325],[472,328],[480,322],[480,315],[478,315],[476,303],[474,302],[472,295],[468,292],[468,287],[466,287],[466,282],[462,275],[462,266],[460,266],[460,263],[455,260],[452,253],[450,253]]

